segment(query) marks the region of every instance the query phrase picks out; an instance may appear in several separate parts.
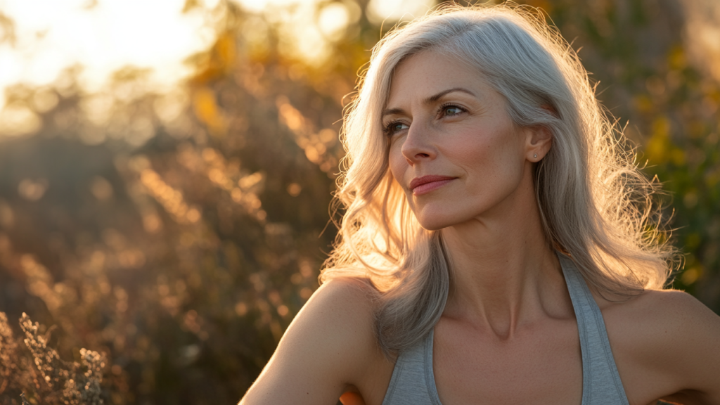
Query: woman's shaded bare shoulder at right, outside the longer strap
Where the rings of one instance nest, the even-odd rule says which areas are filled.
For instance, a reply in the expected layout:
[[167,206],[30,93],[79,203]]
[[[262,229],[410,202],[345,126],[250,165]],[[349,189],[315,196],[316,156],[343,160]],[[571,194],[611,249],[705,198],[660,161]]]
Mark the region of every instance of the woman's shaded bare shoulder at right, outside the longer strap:
[[632,386],[655,383],[673,387],[667,395],[694,392],[720,404],[720,316],[678,290],[646,290],[628,301],[603,304],[629,393]]

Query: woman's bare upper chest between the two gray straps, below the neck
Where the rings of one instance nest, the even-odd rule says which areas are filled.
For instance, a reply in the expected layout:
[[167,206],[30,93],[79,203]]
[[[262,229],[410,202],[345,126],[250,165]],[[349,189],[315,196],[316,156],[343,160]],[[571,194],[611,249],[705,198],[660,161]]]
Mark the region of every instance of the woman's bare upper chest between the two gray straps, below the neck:
[[433,373],[444,405],[580,404],[577,324],[546,322],[500,341],[441,321],[433,339]]

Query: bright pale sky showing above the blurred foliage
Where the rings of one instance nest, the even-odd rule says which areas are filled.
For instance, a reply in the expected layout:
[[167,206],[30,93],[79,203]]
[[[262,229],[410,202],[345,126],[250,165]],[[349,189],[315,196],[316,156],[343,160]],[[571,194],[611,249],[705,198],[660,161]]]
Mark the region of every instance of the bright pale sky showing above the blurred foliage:
[[[183,12],[185,0],[0,0],[0,13],[14,21],[14,41],[0,27],[0,92],[18,83],[52,85],[61,72],[82,66],[84,91],[102,91],[113,72],[125,66],[153,71],[155,90],[169,89],[191,74],[186,58],[215,40],[216,9],[221,0],[198,0],[201,7]],[[325,6],[319,25],[312,22],[318,0],[230,0],[249,12],[281,18],[291,37],[289,44],[312,61],[327,57],[323,42],[359,18],[353,1]],[[403,15],[424,14],[427,0],[372,0],[367,12],[375,22],[396,21]],[[278,13],[295,6],[294,13]],[[0,108],[5,104],[0,97]]]

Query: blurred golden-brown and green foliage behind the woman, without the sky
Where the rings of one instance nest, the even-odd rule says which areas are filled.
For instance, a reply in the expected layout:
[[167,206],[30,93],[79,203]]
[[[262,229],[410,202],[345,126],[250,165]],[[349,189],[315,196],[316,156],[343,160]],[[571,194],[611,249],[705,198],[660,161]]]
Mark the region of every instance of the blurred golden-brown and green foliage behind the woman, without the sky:
[[[675,286],[720,311],[720,86],[681,40],[690,14],[675,0],[527,2],[582,48],[640,163],[675,196],[688,254]],[[42,125],[0,148],[0,311],[58,328],[51,339],[24,319],[22,352],[0,319],[3,403],[22,391],[42,403],[237,401],[317,288],[344,97],[379,27],[353,20],[328,41],[332,57],[309,63],[283,51],[277,16],[217,7],[215,45],[174,92],[139,92],[146,72],[127,68],[101,94],[73,71],[7,94]]]

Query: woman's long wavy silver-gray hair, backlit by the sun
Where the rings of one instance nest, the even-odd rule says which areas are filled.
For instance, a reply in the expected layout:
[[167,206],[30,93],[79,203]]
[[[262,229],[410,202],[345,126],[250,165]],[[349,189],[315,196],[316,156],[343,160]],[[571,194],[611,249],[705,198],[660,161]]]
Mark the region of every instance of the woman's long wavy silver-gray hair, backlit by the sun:
[[519,6],[449,6],[388,33],[374,48],[343,125],[346,158],[336,202],[346,209],[321,282],[362,277],[377,290],[380,347],[396,354],[441,316],[451,272],[441,231],[423,229],[390,174],[381,113],[396,66],[432,50],[468,63],[507,100],[521,127],[552,133],[536,166],[546,240],[585,280],[615,297],[663,288],[675,251],[665,244],[656,191],[595,98],[577,54]]

